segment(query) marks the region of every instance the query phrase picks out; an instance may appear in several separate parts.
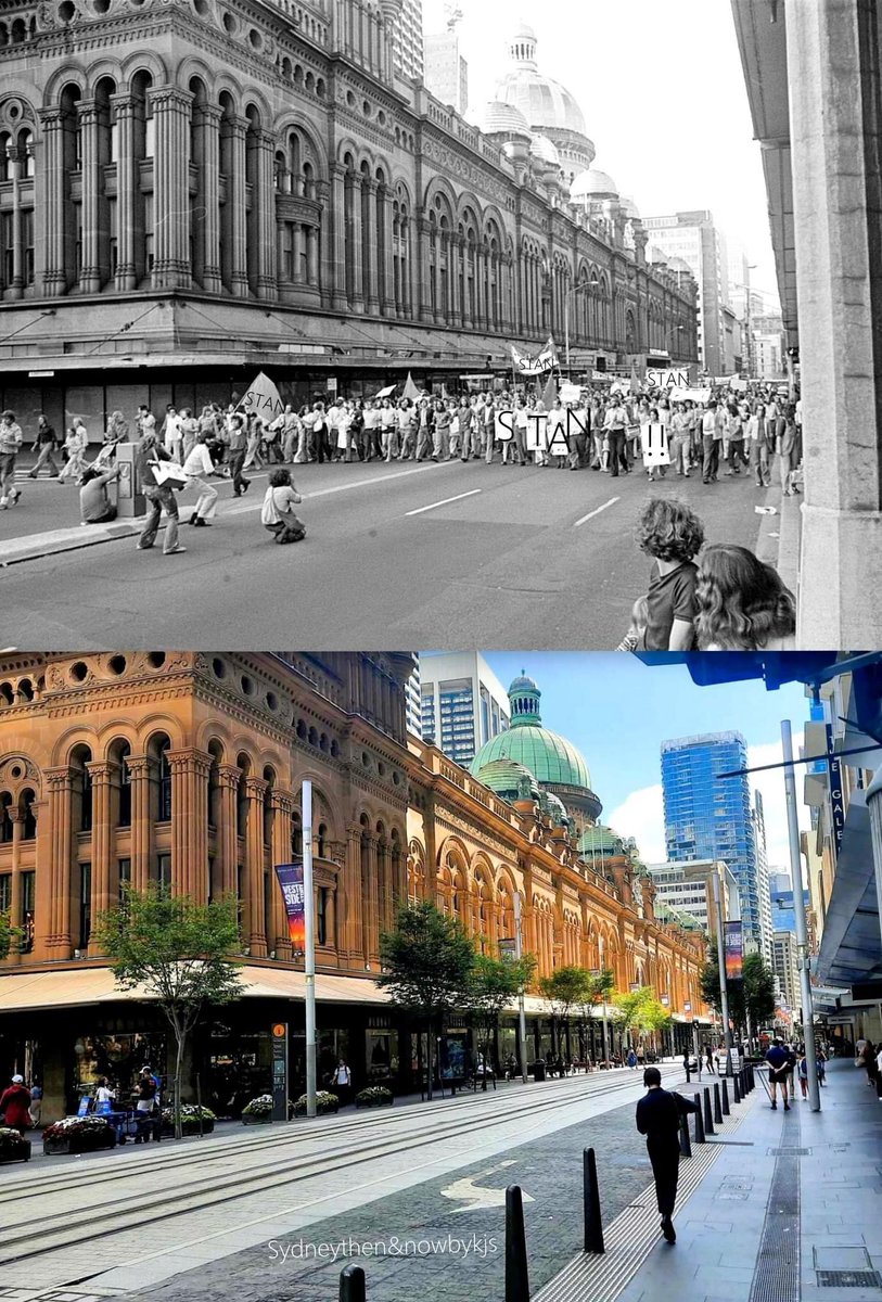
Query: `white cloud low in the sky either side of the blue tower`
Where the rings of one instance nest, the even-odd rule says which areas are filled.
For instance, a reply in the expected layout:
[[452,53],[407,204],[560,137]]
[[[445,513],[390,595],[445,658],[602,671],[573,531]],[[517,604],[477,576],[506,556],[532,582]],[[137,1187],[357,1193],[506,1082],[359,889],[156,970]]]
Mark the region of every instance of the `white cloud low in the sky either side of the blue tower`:
[[[801,745],[803,734],[796,733],[794,736],[795,755],[799,755]],[[782,758],[781,743],[769,742],[764,746],[748,746],[747,756],[751,768],[761,768],[764,764],[779,764]],[[810,823],[808,807],[801,803],[804,768],[797,766],[795,772],[799,825],[801,829],[805,829]],[[762,796],[769,866],[790,871],[790,841],[783,769],[771,768],[766,772],[751,773],[749,783],[751,793],[756,789]],[[753,796],[751,794],[752,799]],[[661,784],[643,786],[636,792],[631,792],[604,822],[609,827],[615,828],[619,836],[632,836],[637,842],[640,857],[647,863],[663,863],[667,858],[665,849],[665,806]]]

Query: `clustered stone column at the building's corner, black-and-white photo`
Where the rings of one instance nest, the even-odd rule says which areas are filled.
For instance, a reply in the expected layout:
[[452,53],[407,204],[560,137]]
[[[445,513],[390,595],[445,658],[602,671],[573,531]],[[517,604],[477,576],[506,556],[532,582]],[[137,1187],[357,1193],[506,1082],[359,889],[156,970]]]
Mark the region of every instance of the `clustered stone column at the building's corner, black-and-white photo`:
[[190,107],[177,86],[147,92],[154,150],[154,289],[190,286]]

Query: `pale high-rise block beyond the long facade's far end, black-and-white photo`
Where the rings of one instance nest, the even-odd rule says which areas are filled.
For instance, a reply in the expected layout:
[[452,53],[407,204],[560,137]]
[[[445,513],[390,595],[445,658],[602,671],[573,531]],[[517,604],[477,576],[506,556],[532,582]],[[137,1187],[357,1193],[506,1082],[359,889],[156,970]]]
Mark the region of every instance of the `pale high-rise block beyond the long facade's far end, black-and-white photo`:
[[649,236],[648,256],[653,250],[665,259],[687,263],[699,285],[699,358],[710,375],[726,374],[726,326],[723,306],[728,302],[728,260],[726,240],[714,225],[713,214],[704,208],[675,212],[666,217],[644,217]]

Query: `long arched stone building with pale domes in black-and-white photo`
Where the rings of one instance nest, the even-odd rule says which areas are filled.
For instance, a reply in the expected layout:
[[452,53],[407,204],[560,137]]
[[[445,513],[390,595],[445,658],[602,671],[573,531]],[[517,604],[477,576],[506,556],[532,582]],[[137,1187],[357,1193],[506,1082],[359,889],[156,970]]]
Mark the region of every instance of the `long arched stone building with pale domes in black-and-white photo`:
[[256,368],[360,392],[503,371],[567,327],[609,365],[693,359],[693,286],[647,266],[529,29],[479,130],[405,74],[401,21],[401,0],[9,0],[4,405],[100,422]]

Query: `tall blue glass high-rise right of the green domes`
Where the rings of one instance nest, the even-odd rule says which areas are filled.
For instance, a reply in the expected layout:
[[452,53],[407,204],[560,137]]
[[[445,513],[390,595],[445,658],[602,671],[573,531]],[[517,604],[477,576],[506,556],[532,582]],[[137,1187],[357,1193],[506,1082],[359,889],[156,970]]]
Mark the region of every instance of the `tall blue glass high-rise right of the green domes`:
[[670,861],[723,859],[735,880],[745,952],[761,950],[756,831],[747,742],[738,732],[665,741],[661,747],[665,842]]

